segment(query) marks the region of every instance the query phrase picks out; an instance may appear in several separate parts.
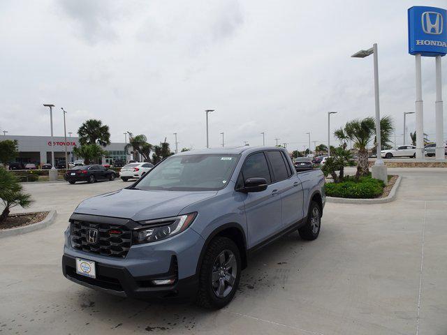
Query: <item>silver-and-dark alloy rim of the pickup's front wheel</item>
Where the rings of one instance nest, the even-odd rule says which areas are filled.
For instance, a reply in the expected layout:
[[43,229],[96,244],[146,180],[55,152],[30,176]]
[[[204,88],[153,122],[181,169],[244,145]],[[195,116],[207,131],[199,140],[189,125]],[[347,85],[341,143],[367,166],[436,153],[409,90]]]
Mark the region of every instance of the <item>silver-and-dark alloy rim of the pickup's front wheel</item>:
[[224,298],[233,290],[237,276],[237,261],[230,250],[223,250],[214,260],[211,283],[214,295]]

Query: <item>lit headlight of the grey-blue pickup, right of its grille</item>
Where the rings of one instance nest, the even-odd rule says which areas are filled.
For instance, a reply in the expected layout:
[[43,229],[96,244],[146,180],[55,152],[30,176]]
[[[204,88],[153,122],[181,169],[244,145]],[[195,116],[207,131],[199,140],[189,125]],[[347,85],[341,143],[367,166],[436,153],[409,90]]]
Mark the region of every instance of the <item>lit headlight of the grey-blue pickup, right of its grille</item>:
[[142,221],[145,228],[135,230],[133,233],[133,241],[136,244],[149,243],[167,239],[183,232],[191,225],[196,218],[197,213],[184,214],[173,218],[162,218],[159,220]]

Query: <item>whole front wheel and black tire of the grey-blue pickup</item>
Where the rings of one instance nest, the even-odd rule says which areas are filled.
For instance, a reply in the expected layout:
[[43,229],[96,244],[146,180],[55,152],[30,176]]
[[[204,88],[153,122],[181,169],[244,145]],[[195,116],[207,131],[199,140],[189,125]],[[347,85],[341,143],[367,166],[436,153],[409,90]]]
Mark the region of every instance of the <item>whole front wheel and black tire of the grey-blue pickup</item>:
[[196,304],[210,309],[226,306],[235,296],[241,265],[235,242],[227,237],[212,239],[200,265]]

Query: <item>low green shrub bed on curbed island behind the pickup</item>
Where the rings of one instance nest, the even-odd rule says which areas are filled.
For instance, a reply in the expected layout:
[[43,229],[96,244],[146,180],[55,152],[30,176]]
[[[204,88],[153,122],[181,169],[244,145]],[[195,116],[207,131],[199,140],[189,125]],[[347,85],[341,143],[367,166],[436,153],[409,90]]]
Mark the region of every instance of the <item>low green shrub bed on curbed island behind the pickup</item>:
[[348,180],[338,184],[326,184],[325,191],[326,195],[335,198],[376,198],[383,192],[383,181],[372,177],[361,177],[356,181],[349,177]]

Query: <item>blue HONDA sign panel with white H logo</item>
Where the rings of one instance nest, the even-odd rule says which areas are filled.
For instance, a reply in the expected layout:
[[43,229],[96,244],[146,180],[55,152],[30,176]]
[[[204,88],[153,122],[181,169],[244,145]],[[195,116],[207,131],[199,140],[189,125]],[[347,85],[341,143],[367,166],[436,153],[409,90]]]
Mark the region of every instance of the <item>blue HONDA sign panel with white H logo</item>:
[[422,56],[447,54],[447,10],[413,6],[408,10],[408,52]]

